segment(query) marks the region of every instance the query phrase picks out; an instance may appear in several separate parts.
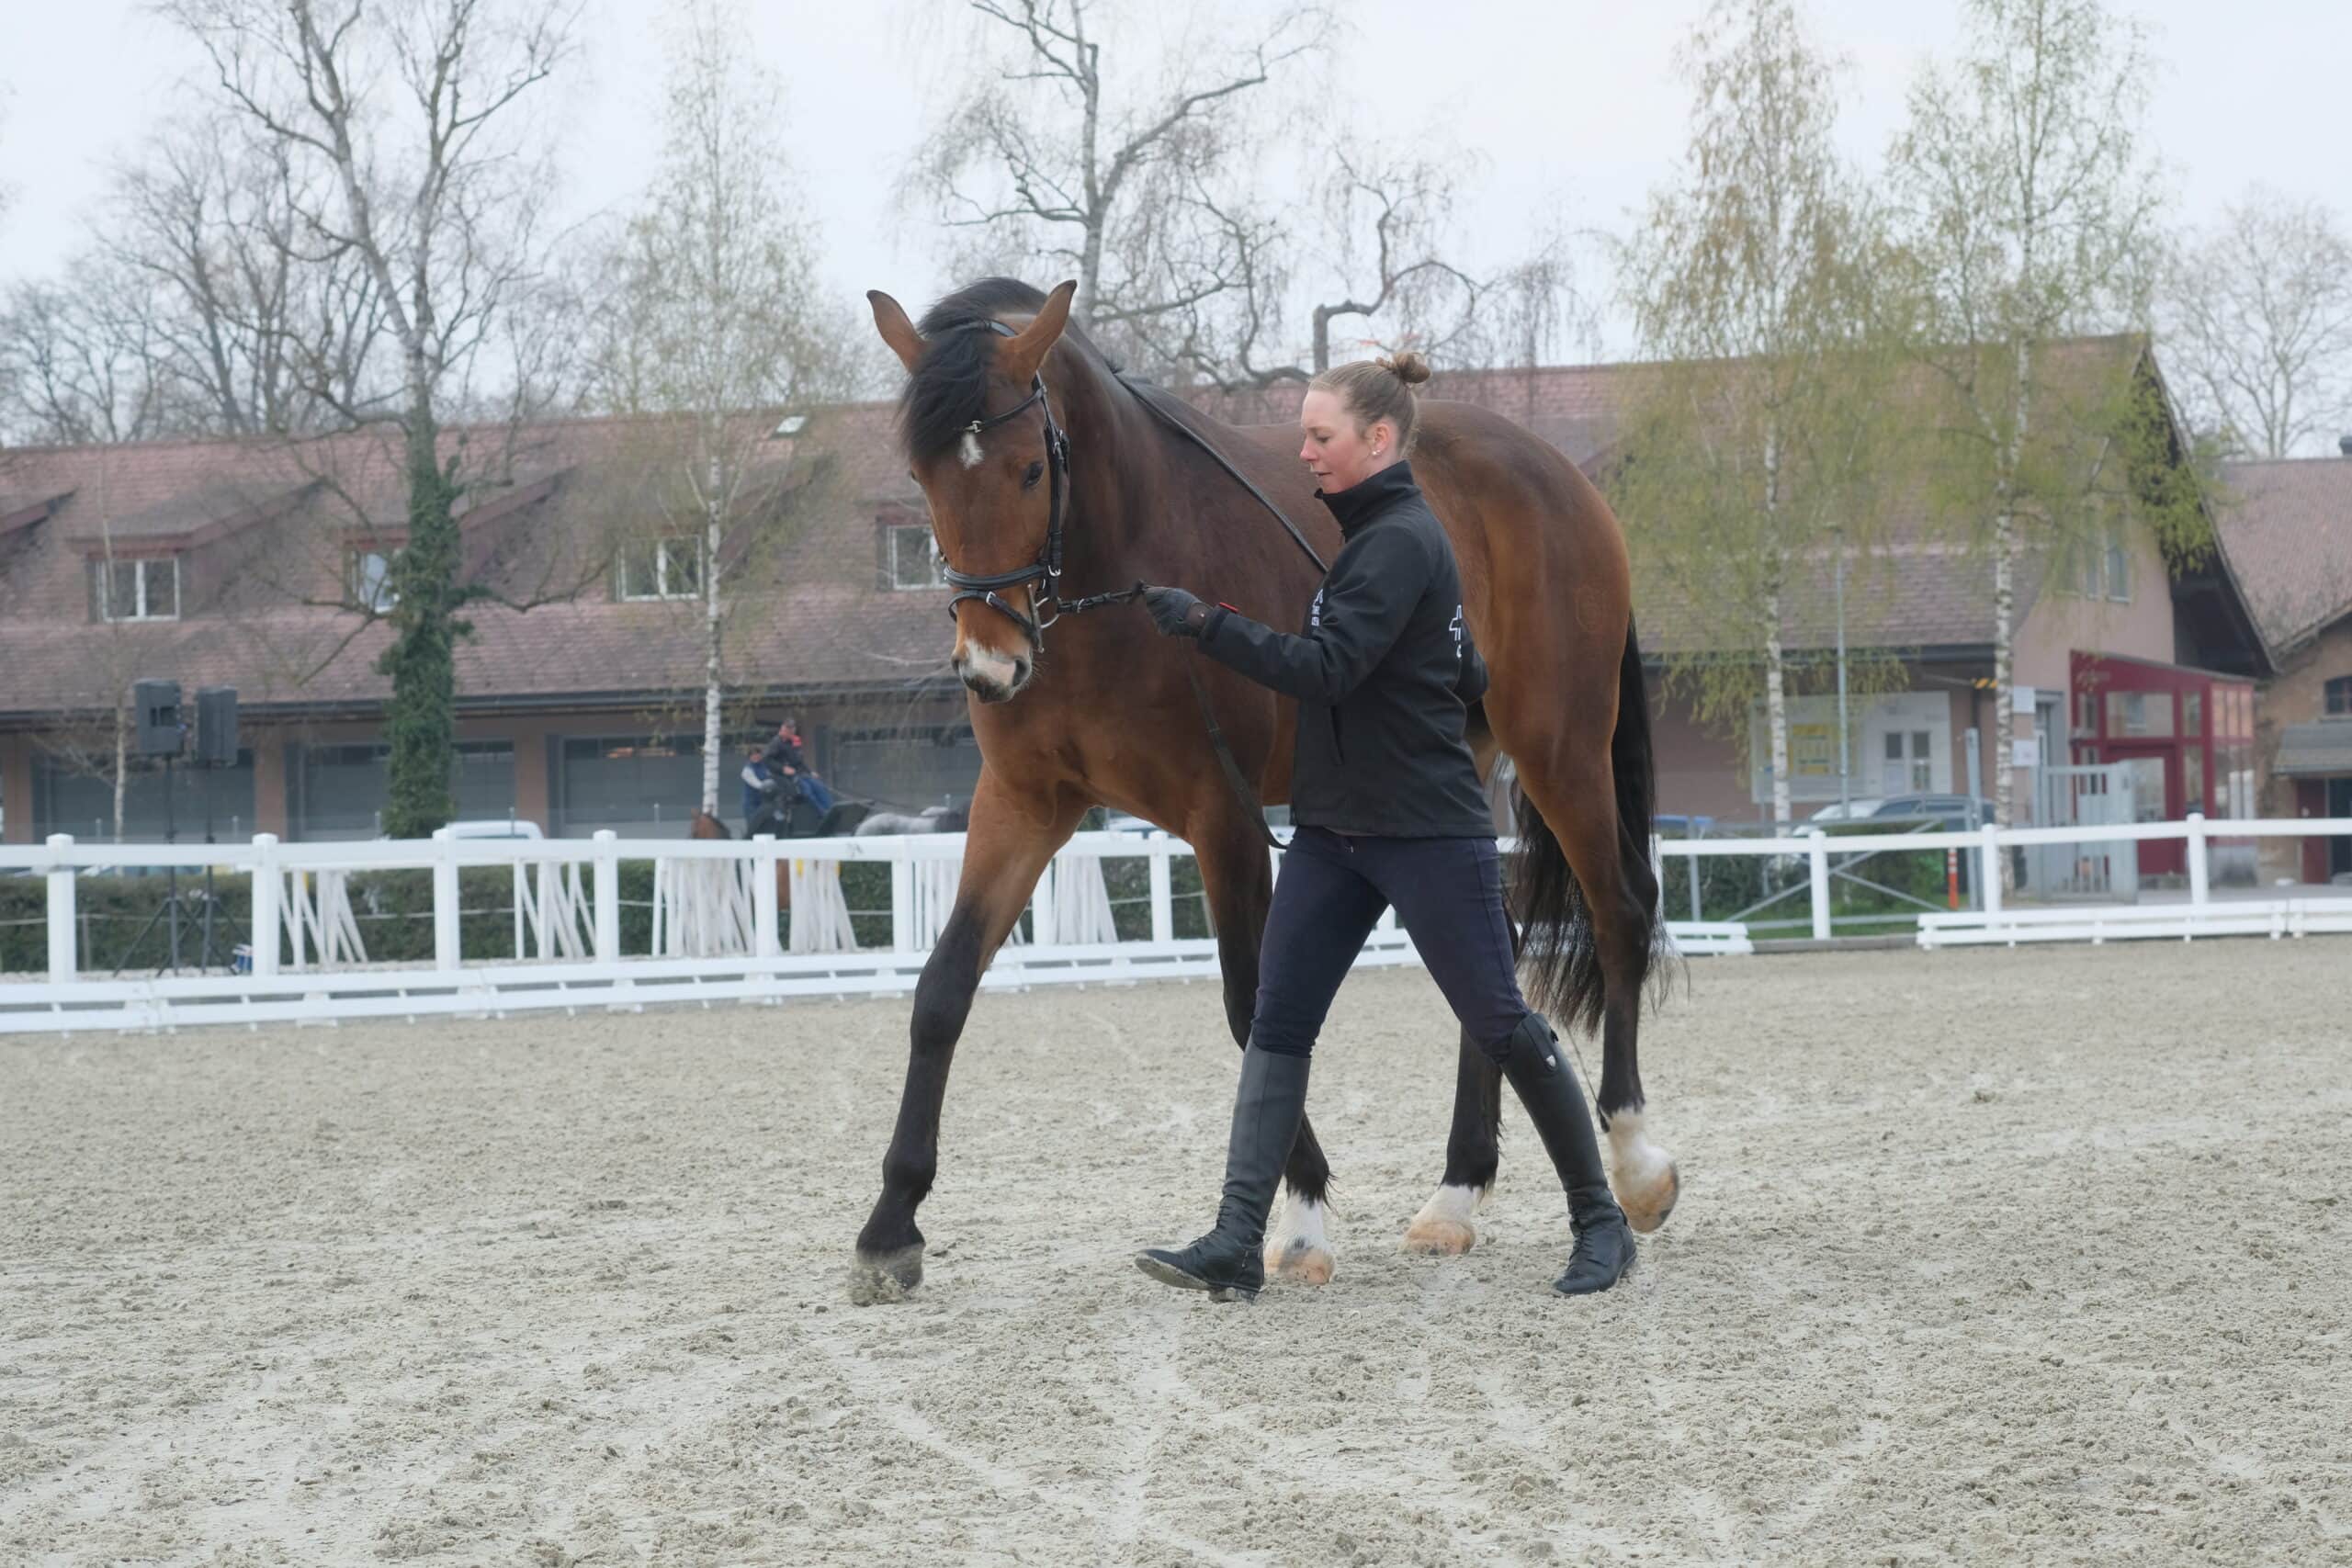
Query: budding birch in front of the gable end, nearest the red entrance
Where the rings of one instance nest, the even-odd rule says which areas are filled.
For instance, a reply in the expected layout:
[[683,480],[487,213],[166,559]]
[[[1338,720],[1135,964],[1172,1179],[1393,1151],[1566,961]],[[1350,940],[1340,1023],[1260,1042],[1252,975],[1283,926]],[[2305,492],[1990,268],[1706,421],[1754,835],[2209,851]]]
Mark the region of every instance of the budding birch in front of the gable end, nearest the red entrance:
[[[2100,454],[2138,411],[2053,348],[2147,320],[2161,193],[2140,150],[2152,66],[2136,24],[2103,0],[1969,0],[1964,14],[1959,63],[1912,85],[1889,181],[1917,280],[1912,353],[1943,409],[1938,494],[1990,557],[2006,825],[2020,571],[2063,567],[2114,524],[2129,463]],[[2194,531],[2197,508],[2150,522]]]

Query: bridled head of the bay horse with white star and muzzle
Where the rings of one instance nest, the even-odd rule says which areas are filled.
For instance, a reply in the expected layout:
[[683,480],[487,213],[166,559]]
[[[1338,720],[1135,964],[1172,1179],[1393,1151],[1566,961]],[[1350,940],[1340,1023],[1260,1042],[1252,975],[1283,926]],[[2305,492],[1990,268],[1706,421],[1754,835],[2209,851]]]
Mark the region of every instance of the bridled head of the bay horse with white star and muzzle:
[[1070,322],[1075,292],[1065,282],[1030,303],[1028,322],[997,322],[957,296],[936,306],[922,329],[889,294],[866,296],[875,331],[908,369],[898,437],[960,590],[955,675],[985,703],[1028,684],[1040,621],[1051,609],[1056,425],[1037,371]]

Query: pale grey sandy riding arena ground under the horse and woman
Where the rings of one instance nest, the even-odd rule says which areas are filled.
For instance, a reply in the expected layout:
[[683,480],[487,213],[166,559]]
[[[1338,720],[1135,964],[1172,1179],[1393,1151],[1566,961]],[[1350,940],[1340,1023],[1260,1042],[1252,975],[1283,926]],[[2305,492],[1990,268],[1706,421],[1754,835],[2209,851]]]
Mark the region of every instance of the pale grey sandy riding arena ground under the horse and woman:
[[0,1561],[2352,1563],[2352,943],[1700,961],[1588,1302],[1517,1107],[1395,1251],[1418,973],[1317,1058],[1338,1279],[1136,1274],[1221,1018],[983,997],[873,1309],[903,1001],[0,1041]]

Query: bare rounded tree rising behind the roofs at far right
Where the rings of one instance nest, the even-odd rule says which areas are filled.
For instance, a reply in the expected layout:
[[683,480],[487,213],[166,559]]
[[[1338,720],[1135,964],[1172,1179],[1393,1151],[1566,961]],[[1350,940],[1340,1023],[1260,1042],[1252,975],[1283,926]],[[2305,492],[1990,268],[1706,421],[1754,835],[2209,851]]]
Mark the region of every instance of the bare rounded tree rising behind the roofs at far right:
[[2164,360],[2199,433],[2284,458],[2352,421],[2352,240],[2319,202],[2253,186],[2166,270]]

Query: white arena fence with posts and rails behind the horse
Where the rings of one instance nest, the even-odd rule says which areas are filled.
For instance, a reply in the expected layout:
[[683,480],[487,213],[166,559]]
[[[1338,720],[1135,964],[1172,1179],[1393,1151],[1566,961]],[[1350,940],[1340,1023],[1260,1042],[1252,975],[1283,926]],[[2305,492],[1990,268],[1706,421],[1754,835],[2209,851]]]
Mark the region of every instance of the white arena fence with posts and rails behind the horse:
[[[1825,837],[1809,830],[1771,839],[1668,839],[1656,844],[1656,858],[1661,867],[1686,867],[1693,891],[1700,886],[1700,865],[1710,860],[1748,858],[1785,872],[1802,867],[1802,884],[1792,882],[1764,903],[1795,905],[1802,889],[1816,938],[1835,933],[1835,891],[1851,889],[1896,898],[1896,914],[1860,919],[1907,919],[1922,947],[2100,943],[2129,936],[2288,938],[2352,931],[2352,896],[2216,900],[2209,889],[2209,846],[2216,837],[2338,835],[2352,835],[2352,818],[2206,823],[2192,816],[2185,823],[1985,827],[1971,835]],[[2185,903],[2140,910],[2004,905],[1999,865],[2011,849],[2161,839],[2187,844]],[[47,973],[0,980],[0,1032],[898,994],[913,990],[948,917],[962,851],[962,835],[694,842],[597,832],[593,839],[325,844],[280,844],[259,835],[249,844],[186,846],[78,844],[56,835],[47,844],[0,849],[0,877],[16,872],[47,879]],[[1882,886],[1875,879],[1882,870],[1872,877],[1856,870],[1872,856],[1922,851],[1969,856],[1978,907],[1933,910],[1915,893]],[[1178,936],[1176,910],[1183,896],[1176,891],[1174,865],[1190,853],[1188,844],[1167,835],[1077,835],[1040,879],[1025,929],[997,954],[983,985],[1216,976],[1216,940]],[[1272,853],[1279,865],[1279,851]],[[1143,863],[1143,891],[1112,898],[1103,867],[1122,860]],[[621,867],[637,865],[642,875],[644,863],[654,867],[652,922],[635,926],[637,940],[623,945]],[[875,865],[866,872],[868,886],[880,889],[887,877],[887,907],[854,910],[844,900],[842,872],[861,865]],[[249,973],[85,973],[80,877],[148,867],[216,867],[249,877]],[[461,872],[475,867],[506,867],[513,903],[487,912],[468,907]],[[386,964],[365,957],[362,924],[386,917],[355,914],[353,877],[372,872],[428,875],[430,903],[416,919],[430,922],[430,959]],[[477,882],[477,893],[480,886]],[[1131,875],[1127,886],[1134,886]],[[1122,940],[1115,910],[1134,910],[1138,903],[1148,905],[1148,933]],[[647,905],[633,900],[633,907]],[[485,922],[482,914],[492,919]],[[1693,905],[1693,914],[1703,910]],[[475,917],[473,924],[466,917]],[[861,945],[856,922],[880,929],[884,917],[887,938]],[[1185,924],[1204,926],[1197,917]],[[1665,929],[1682,952],[1752,952],[1750,924],[1743,919],[1668,919]],[[1367,966],[1416,961],[1395,917],[1381,922],[1359,959]]]

